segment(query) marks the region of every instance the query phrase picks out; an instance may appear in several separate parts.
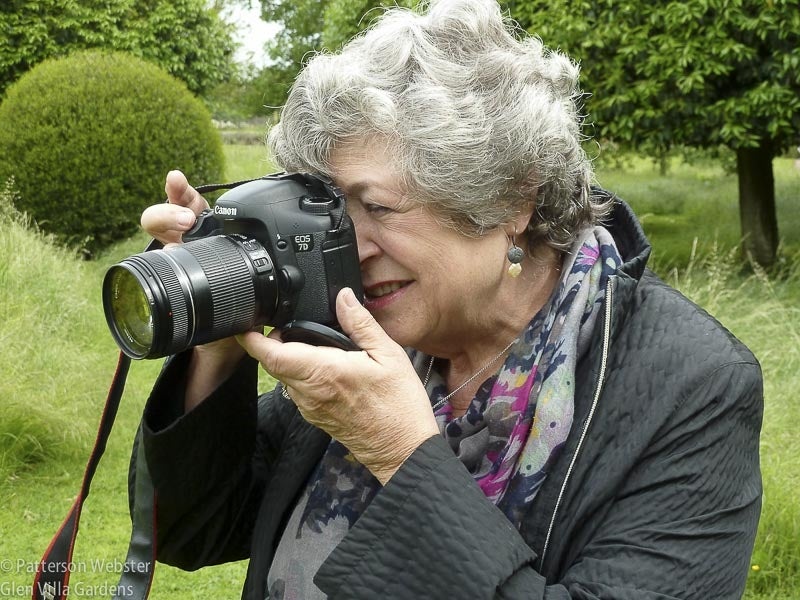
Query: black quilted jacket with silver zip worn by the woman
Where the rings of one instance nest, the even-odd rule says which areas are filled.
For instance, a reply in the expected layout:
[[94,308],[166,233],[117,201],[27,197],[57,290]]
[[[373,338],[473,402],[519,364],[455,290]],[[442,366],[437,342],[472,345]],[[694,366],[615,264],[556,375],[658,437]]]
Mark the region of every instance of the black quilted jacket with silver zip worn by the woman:
[[[441,438],[403,465],[315,581],[331,598],[739,598],[761,502],[761,374],[709,315],[645,269],[619,202],[625,264],[578,366],[573,430],[520,531]],[[158,556],[250,559],[262,600],[291,508],[328,444],[291,403],[256,401],[256,364],[180,416],[185,356],[145,412]]]

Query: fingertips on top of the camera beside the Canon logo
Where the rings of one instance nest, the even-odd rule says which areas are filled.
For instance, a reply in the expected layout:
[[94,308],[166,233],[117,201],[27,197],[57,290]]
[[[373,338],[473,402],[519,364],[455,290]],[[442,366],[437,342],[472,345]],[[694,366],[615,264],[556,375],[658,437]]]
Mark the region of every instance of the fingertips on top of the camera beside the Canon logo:
[[208,203],[180,171],[167,173],[164,191],[167,203],[145,209],[141,217],[142,229],[164,244],[177,244],[192,228],[197,215],[208,208]]

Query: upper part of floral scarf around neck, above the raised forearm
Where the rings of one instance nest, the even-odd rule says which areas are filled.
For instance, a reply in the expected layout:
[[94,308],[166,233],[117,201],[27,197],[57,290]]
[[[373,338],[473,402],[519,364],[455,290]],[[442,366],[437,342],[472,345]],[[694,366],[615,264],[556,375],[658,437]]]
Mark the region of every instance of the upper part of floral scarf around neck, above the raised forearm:
[[[605,229],[587,231],[569,253],[549,302],[466,414],[453,418],[449,404],[437,411],[450,447],[517,527],[569,435],[575,366],[589,346],[608,277],[621,262]],[[441,378],[429,387],[434,403],[447,393]]]

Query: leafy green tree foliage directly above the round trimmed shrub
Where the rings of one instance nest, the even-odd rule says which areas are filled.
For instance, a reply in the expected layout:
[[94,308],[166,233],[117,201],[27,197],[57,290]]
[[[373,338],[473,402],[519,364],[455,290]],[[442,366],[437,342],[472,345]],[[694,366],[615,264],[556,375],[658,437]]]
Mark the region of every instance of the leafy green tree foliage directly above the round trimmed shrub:
[[203,93],[233,72],[231,26],[205,0],[8,0],[0,3],[0,96],[46,58],[119,50]]

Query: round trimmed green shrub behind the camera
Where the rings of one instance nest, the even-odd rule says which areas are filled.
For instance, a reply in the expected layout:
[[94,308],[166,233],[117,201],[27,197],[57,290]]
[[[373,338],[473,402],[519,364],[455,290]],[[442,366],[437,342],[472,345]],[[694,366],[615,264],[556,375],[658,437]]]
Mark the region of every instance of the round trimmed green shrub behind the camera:
[[224,158],[211,115],[159,67],[119,52],[45,61],[0,104],[0,182],[17,208],[89,254],[139,226],[164,199],[164,176],[218,181]]

